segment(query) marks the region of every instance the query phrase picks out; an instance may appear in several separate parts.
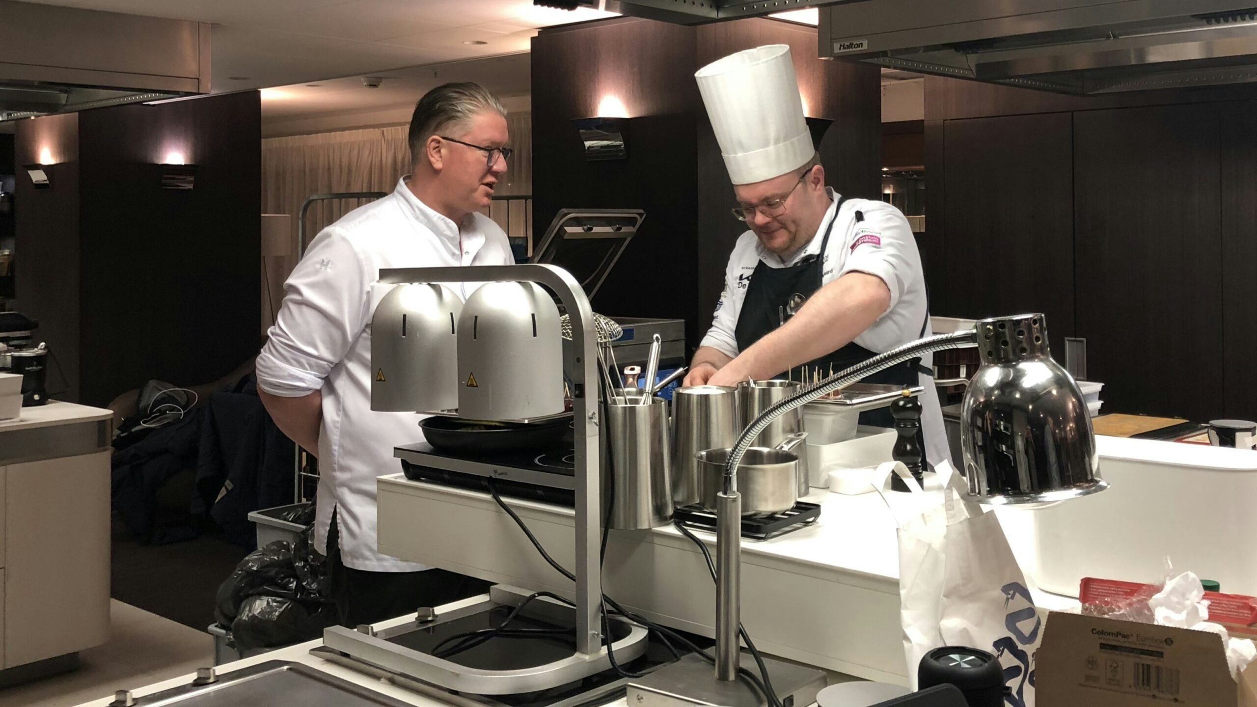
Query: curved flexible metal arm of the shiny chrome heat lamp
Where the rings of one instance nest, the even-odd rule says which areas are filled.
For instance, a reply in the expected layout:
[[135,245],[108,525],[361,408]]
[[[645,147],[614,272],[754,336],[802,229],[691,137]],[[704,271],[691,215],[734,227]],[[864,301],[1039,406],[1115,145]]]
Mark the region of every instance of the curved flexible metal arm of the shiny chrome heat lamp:
[[747,429],[742,430],[742,435],[738,442],[733,445],[733,452],[729,454],[729,462],[724,467],[724,493],[733,493],[738,489],[738,464],[742,463],[742,457],[750,449],[750,443],[753,439],[759,437],[759,433],[764,431],[776,420],[786,413],[807,405],[808,403],[828,395],[836,390],[843,389],[854,382],[860,381],[877,371],[884,371],[891,366],[903,364],[911,359],[918,359],[925,353],[931,353],[934,351],[944,351],[948,348],[967,348],[978,345],[978,330],[970,328],[967,331],[958,331],[955,333],[940,333],[938,336],[929,336],[918,341],[913,341],[891,348],[885,353],[879,353],[867,361],[856,364],[850,369],[838,371],[832,376],[822,380],[821,382],[813,384],[804,387],[793,396],[782,400],[781,403],[773,405],[772,408],[764,410]]

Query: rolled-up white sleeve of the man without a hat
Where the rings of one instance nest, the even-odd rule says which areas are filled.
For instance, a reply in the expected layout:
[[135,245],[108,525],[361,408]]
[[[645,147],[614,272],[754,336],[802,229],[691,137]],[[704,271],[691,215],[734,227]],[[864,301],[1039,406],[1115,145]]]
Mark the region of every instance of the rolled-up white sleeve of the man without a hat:
[[258,355],[258,387],[283,398],[321,390],[367,326],[370,286],[353,245],[324,229],[284,283],[284,303]]

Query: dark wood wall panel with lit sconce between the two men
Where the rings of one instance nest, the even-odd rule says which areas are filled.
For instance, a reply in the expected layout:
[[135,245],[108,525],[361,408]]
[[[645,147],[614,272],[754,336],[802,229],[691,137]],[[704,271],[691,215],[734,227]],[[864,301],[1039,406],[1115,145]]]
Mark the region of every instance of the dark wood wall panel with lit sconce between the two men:
[[[693,29],[620,19],[533,39],[533,215],[542,234],[563,208],[642,209],[646,220],[593,299],[598,312],[700,317],[694,263]],[[615,96],[634,120],[627,160],[586,161],[573,118]],[[705,318],[705,317],[703,317]]]

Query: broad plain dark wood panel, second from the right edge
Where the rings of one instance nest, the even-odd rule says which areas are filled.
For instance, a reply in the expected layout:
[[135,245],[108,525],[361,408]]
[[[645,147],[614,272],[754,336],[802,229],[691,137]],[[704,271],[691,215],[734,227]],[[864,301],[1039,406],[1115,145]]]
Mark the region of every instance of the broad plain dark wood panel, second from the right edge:
[[1106,411],[1222,409],[1218,130],[1216,106],[1073,116],[1077,332]]

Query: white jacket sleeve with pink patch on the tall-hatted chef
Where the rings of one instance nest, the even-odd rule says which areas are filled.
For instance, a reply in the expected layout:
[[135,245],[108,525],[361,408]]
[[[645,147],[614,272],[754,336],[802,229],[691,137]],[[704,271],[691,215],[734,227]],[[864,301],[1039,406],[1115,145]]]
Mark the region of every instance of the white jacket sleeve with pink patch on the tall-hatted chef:
[[[837,277],[851,272],[867,273],[880,278],[890,289],[886,312],[899,304],[899,298],[920,269],[916,240],[908,219],[897,209],[877,205],[864,210],[865,220],[857,224],[847,248],[846,262]],[[885,315],[885,312],[882,312]]]

